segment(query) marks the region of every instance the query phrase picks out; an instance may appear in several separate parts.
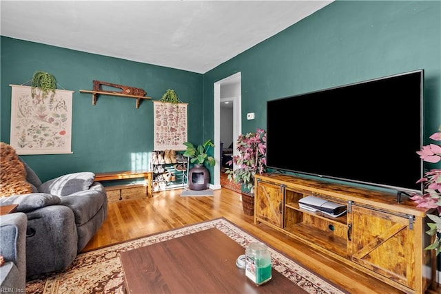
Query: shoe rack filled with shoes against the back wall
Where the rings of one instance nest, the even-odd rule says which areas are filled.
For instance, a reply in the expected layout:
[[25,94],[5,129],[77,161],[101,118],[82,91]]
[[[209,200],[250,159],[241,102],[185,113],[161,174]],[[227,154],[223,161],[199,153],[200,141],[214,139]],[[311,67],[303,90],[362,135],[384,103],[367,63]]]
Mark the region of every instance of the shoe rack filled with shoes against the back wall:
[[188,158],[183,151],[172,149],[152,151],[152,191],[182,189],[187,186]]

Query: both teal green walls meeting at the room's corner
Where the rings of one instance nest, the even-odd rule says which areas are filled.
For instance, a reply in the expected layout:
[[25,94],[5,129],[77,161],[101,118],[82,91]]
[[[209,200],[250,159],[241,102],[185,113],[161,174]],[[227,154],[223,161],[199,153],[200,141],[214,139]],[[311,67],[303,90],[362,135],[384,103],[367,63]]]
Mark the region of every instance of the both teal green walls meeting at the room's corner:
[[[214,138],[213,83],[236,72],[245,133],[266,127],[266,101],[422,68],[428,137],[441,124],[440,52],[440,1],[336,1],[205,74],[1,37],[1,140],[10,136],[9,84],[29,81],[35,70],[75,91],[74,154],[23,156],[42,179],[130,169],[131,154],[153,148],[152,103],[136,109],[132,99],[101,96],[92,106],[79,90],[91,90],[94,79],[141,87],[154,100],[176,90],[189,103],[188,139],[200,144]],[[246,120],[247,112],[256,119]]]

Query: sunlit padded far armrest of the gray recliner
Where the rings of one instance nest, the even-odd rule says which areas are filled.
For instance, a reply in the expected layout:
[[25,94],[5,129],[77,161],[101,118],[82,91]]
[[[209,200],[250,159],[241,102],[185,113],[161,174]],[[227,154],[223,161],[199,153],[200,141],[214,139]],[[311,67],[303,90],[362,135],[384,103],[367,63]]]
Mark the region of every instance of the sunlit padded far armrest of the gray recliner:
[[67,196],[78,191],[88,190],[94,182],[95,174],[89,171],[80,173],[66,174],[43,182],[39,187],[39,192],[57,196]]

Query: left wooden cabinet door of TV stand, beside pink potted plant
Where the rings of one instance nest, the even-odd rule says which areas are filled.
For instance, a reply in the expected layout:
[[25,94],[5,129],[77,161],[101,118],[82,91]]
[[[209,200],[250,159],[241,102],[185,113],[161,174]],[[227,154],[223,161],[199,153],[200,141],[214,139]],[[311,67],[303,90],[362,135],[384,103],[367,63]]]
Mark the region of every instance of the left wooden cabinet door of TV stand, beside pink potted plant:
[[256,218],[265,220],[277,227],[283,227],[283,191],[284,185],[258,181],[254,193]]

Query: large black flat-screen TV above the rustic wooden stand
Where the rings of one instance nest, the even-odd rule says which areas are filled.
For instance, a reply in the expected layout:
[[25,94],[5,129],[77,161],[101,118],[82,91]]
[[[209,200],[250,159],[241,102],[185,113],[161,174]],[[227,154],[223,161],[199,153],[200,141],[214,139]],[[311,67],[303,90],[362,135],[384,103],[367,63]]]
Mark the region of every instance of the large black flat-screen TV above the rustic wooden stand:
[[267,167],[421,192],[423,74],[267,101]]

